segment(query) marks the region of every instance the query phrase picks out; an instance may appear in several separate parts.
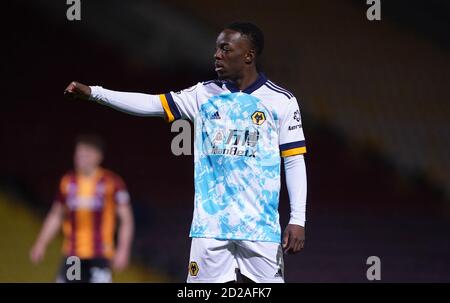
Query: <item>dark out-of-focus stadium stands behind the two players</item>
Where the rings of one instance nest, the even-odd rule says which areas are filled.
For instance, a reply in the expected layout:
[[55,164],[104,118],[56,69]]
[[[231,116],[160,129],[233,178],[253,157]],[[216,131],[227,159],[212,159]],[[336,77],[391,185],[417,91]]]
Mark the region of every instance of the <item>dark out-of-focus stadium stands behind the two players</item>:
[[[378,256],[382,281],[448,282],[450,6],[381,2],[381,21],[368,21],[365,1],[85,0],[81,21],[68,21],[65,1],[9,1],[2,190],[43,216],[75,137],[100,134],[104,165],[132,195],[134,260],[183,281],[192,156],[171,153],[175,134],[162,119],[63,91],[77,80],[156,94],[212,79],[217,33],[249,20],[266,35],[264,72],[299,100],[307,139],[307,240],[285,258],[286,280],[364,282],[367,258]],[[284,185],[280,212],[284,226]]]

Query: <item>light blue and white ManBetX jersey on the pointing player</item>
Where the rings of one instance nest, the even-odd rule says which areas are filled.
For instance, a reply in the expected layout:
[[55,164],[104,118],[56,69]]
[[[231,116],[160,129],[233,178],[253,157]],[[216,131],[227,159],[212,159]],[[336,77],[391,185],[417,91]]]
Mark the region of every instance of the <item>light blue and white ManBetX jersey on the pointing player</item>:
[[279,243],[281,156],[306,152],[296,98],[263,74],[244,91],[217,80],[160,98],[169,121],[195,126],[190,236]]

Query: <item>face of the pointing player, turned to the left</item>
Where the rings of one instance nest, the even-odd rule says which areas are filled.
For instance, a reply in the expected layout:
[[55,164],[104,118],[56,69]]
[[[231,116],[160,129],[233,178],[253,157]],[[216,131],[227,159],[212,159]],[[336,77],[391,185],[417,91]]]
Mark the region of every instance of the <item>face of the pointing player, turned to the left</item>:
[[215,70],[221,80],[235,80],[252,61],[250,41],[240,32],[226,29],[217,37]]

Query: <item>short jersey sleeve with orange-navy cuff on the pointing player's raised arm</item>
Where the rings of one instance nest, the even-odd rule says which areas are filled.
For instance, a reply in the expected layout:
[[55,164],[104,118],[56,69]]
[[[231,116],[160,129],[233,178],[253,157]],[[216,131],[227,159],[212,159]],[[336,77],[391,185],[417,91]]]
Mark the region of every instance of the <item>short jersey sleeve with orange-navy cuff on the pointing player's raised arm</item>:
[[197,83],[178,92],[159,95],[168,122],[178,119],[194,120],[198,112],[197,94],[200,86],[201,83]]

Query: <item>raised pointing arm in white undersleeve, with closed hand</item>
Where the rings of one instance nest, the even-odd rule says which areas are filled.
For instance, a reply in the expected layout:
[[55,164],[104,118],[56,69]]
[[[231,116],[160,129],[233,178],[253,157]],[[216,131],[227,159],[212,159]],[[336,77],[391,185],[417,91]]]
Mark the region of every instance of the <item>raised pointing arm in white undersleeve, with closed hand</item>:
[[64,94],[71,99],[93,100],[132,115],[164,117],[158,95],[112,91],[75,81],[67,86]]

